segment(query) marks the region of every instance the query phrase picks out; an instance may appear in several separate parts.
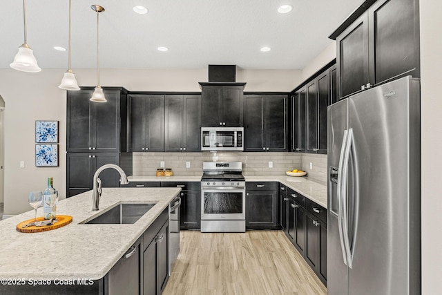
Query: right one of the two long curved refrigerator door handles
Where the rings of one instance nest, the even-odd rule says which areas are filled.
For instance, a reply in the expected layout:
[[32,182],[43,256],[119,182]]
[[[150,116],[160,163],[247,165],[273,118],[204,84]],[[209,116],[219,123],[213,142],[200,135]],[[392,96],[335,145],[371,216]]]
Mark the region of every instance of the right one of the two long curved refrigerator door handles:
[[348,209],[347,209],[347,182],[348,182],[348,164],[350,158],[350,152],[353,145],[353,129],[348,129],[347,144],[345,145],[345,155],[343,160],[343,180],[342,180],[342,205],[343,205],[343,240],[345,245],[345,251],[347,253],[347,265],[352,268],[352,256],[350,253],[350,242],[348,232]]

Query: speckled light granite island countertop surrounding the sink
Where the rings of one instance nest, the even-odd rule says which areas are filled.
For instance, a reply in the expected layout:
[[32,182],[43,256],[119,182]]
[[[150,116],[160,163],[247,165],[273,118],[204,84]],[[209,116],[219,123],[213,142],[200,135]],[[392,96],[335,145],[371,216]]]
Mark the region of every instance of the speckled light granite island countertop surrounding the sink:
[[[61,200],[59,215],[73,216],[65,227],[23,234],[16,225],[34,210],[0,221],[0,278],[54,280],[103,278],[119,258],[181,191],[180,188],[104,188],[99,211],[91,211],[92,191]],[[79,224],[119,202],[156,202],[131,225]],[[42,216],[42,208],[37,216]]]

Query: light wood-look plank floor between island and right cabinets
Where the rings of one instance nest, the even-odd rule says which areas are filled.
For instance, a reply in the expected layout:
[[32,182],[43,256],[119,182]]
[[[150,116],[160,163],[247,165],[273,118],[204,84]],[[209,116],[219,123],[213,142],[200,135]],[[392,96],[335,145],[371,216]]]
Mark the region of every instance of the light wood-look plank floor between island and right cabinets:
[[181,231],[163,295],[327,294],[282,231]]

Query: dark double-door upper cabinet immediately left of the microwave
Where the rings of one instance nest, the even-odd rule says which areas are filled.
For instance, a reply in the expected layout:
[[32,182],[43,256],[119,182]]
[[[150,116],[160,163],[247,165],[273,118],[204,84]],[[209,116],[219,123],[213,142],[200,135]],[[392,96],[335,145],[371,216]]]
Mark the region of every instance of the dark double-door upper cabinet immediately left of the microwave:
[[166,95],[164,151],[201,151],[201,95]]

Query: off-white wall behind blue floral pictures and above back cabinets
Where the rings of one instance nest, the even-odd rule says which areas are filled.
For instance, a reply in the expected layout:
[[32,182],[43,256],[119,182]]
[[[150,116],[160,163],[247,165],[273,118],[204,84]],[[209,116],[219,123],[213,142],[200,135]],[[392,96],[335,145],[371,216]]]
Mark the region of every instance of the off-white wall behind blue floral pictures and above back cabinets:
[[[95,86],[95,69],[73,69],[82,86]],[[64,69],[22,73],[0,69],[0,92],[6,102],[5,129],[5,215],[30,210],[28,192],[46,187],[54,178],[61,198],[66,194],[66,91],[57,86]],[[245,91],[291,91],[301,82],[300,70],[244,70],[238,82]],[[102,86],[124,86],[129,91],[200,91],[198,82],[208,81],[207,69],[144,70],[102,69]],[[59,121],[59,166],[35,167],[35,120]],[[25,161],[25,168],[19,162]]]

